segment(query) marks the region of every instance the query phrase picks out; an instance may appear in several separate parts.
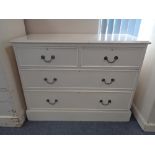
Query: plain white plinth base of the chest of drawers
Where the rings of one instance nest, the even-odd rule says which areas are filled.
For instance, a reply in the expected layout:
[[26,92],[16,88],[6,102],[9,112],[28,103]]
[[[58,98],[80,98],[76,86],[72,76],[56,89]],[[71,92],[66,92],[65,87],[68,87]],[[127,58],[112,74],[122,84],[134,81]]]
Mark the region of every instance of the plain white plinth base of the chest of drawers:
[[130,120],[131,111],[27,110],[32,121],[118,121]]

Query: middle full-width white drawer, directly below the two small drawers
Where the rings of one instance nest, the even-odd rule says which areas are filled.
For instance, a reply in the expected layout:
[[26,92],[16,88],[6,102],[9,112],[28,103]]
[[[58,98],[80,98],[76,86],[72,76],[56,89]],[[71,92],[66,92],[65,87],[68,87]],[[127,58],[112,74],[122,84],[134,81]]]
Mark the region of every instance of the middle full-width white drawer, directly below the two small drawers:
[[22,70],[24,88],[133,89],[137,71]]

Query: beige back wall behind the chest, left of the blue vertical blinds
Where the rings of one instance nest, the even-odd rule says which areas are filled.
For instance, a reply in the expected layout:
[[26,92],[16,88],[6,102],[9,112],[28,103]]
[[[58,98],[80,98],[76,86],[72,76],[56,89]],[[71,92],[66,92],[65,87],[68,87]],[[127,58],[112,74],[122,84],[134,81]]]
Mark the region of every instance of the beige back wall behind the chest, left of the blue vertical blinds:
[[97,33],[98,19],[26,19],[26,31],[31,33]]

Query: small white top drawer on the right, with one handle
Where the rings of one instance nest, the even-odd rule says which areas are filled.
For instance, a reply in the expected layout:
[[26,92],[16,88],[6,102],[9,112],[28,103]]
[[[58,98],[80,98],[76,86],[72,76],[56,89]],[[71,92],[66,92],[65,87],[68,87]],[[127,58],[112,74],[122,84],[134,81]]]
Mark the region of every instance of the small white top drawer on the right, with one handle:
[[103,48],[81,49],[81,65],[84,67],[140,67],[145,48]]

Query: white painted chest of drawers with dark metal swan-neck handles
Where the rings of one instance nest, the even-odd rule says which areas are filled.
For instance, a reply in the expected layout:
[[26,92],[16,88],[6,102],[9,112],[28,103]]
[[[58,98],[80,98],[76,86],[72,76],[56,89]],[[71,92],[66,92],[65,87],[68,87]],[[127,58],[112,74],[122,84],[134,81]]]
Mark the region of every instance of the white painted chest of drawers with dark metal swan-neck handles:
[[116,38],[53,34],[13,40],[28,119],[129,121],[149,42]]

